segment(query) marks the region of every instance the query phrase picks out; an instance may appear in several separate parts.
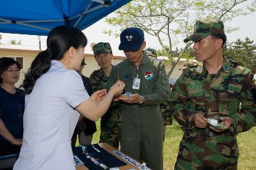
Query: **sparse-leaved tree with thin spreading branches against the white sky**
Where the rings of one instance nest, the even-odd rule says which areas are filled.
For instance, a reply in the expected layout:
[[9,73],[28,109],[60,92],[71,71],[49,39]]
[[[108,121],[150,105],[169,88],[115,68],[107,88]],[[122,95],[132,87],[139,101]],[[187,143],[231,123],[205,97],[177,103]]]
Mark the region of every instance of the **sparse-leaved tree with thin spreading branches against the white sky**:
[[[193,32],[196,19],[221,18],[223,22],[239,15],[247,15],[255,11],[256,0],[137,0],[131,1],[111,17],[106,18],[109,25],[118,30],[106,30],[111,35],[126,27],[140,27],[148,34],[155,36],[162,47],[164,55],[172,62],[172,73],[180,57],[186,52],[191,42],[184,46],[174,61],[173,47],[177,47]],[[226,28],[226,32],[237,28]]]

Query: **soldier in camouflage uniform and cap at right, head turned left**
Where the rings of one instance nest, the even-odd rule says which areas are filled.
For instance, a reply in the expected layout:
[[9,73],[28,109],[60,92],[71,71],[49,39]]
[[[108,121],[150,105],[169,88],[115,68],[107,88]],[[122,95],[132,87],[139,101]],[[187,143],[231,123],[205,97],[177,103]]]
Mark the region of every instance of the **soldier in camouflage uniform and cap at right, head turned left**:
[[[221,20],[197,20],[184,39],[195,42],[200,64],[186,69],[174,86],[173,116],[184,131],[175,169],[237,169],[236,134],[255,125],[252,73],[223,56],[226,39]],[[218,119],[223,129],[207,118]]]

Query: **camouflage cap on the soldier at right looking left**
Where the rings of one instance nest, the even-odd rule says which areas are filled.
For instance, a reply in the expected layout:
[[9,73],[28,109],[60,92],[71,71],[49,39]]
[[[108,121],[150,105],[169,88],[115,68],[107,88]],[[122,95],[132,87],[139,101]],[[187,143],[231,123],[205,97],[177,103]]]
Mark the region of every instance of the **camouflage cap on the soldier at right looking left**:
[[184,39],[184,43],[187,43],[188,41],[200,41],[212,33],[225,33],[224,24],[221,20],[196,20],[194,33],[188,38]]

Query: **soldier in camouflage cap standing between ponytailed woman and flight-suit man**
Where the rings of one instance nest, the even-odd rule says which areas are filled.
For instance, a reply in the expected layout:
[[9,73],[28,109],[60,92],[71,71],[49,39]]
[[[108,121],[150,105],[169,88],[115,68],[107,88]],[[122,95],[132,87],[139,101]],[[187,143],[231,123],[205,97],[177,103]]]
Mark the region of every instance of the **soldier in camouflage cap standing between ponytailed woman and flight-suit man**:
[[[97,43],[93,46],[93,53],[100,69],[90,75],[90,84],[93,92],[106,89],[109,74],[112,70],[113,54],[109,43]],[[100,143],[119,148],[121,139],[121,115],[118,104],[112,104],[107,113],[100,119]]]

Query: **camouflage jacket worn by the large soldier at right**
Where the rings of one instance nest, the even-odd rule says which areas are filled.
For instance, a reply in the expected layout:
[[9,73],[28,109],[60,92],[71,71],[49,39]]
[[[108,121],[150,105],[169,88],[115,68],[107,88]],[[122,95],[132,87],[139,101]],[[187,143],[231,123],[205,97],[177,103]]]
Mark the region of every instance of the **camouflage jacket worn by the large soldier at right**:
[[[230,132],[247,131],[255,125],[255,92],[250,81],[250,69],[224,57],[223,66],[211,75],[203,67],[186,69],[175,83],[173,117],[184,129],[194,129],[192,115],[200,112],[204,117],[232,117]],[[254,97],[253,97],[254,96]]]

